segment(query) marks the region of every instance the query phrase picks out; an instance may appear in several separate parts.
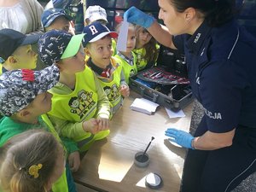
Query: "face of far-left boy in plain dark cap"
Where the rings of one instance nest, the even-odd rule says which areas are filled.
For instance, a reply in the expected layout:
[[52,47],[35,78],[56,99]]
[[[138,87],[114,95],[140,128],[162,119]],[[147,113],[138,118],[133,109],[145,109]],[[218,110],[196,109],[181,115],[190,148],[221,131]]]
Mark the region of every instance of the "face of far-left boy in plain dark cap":
[[15,68],[26,68],[26,69],[34,69],[37,67],[37,58],[38,54],[36,54],[32,50],[32,46],[30,44],[20,46],[15,49],[13,54],[15,56],[16,62]]

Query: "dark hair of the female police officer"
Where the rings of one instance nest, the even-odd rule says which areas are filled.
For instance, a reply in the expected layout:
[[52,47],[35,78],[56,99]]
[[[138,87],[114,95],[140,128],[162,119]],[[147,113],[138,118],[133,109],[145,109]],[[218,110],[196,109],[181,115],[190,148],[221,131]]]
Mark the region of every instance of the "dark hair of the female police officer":
[[170,0],[177,12],[194,8],[205,17],[209,26],[221,26],[237,14],[236,0]]

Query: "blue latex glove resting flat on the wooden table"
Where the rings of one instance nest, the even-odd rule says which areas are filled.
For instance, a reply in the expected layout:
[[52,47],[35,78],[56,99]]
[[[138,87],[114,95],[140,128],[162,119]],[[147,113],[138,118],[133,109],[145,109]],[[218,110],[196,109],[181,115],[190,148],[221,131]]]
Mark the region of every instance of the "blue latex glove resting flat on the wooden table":
[[166,136],[171,137],[169,140],[171,142],[177,143],[178,145],[183,146],[183,148],[192,148],[192,140],[194,139],[188,132],[177,130],[174,128],[169,128],[166,130]]

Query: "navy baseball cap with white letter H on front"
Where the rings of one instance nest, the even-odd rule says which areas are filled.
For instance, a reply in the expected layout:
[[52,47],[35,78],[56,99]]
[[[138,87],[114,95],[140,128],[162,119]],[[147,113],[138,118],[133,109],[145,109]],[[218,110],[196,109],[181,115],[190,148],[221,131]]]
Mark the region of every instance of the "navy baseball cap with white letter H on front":
[[83,46],[88,43],[96,42],[97,40],[109,35],[111,38],[117,38],[119,34],[117,32],[110,32],[107,26],[103,26],[102,23],[95,21],[89,26],[84,26],[83,33],[85,34],[83,39]]

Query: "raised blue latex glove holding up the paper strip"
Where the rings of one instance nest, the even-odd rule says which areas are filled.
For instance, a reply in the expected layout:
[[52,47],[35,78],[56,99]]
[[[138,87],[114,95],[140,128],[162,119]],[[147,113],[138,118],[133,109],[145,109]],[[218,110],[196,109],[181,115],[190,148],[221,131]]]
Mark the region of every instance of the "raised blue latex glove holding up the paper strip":
[[131,7],[125,11],[124,19],[130,23],[137,24],[138,26],[143,26],[148,28],[154,22],[154,17],[143,13],[143,11],[137,9],[136,7]]

